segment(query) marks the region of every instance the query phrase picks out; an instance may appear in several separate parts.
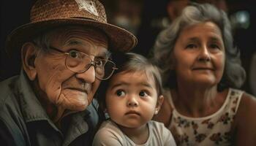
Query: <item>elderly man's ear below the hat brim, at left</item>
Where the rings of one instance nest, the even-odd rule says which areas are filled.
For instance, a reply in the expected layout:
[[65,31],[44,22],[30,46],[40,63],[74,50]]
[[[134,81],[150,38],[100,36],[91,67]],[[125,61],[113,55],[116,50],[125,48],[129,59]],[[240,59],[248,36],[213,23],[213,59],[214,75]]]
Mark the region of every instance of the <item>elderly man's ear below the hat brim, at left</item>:
[[35,80],[37,77],[37,69],[35,60],[37,58],[37,48],[31,42],[26,42],[21,48],[21,59],[23,69],[25,70],[29,80]]

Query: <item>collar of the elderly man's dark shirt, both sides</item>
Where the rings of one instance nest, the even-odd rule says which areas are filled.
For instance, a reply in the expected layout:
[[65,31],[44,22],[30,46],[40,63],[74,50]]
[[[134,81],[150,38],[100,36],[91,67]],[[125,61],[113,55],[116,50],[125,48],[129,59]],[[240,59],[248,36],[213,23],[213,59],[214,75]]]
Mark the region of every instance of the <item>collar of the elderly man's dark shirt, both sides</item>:
[[[29,84],[29,79],[26,76],[26,73],[23,71],[23,69],[20,72],[20,80],[18,82],[18,92],[20,96],[21,110],[23,112],[23,117],[26,123],[39,121],[39,120],[47,120],[48,123],[53,128],[56,129],[56,131],[59,131],[59,129],[55,126],[53,121],[50,120],[50,118],[48,117],[47,113],[42,107],[42,104],[37,99],[37,96],[35,96],[34,91],[31,88],[31,85]],[[86,121],[84,120],[85,117],[91,120],[95,120],[95,121],[92,121],[92,123],[94,124],[97,123],[99,120],[97,118],[97,111],[94,110],[94,107],[91,104],[89,105],[89,107],[87,107],[85,111],[78,112],[72,115],[74,116],[72,116],[73,124],[71,125],[76,127],[75,130],[73,129],[72,131],[74,131],[74,133],[78,133],[78,135],[86,133],[86,131],[88,131],[89,129]],[[75,136],[72,136],[72,137],[75,137]]]

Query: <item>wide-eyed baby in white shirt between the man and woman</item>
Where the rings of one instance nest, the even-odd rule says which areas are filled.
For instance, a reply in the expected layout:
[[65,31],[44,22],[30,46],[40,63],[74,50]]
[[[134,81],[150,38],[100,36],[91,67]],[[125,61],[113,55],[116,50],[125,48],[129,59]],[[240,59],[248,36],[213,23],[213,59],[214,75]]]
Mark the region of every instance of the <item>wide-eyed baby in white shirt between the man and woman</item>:
[[113,61],[118,69],[101,83],[97,96],[110,118],[93,145],[176,145],[164,124],[151,120],[164,100],[157,66],[135,53],[114,53]]

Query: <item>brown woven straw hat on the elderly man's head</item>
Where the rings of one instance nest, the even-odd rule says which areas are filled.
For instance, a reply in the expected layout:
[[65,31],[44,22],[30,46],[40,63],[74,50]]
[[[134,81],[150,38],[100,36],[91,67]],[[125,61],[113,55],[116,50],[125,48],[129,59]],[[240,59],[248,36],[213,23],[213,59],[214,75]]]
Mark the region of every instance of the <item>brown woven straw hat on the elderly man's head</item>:
[[30,20],[7,37],[7,53],[17,53],[24,42],[37,34],[64,25],[99,28],[108,35],[111,50],[127,52],[138,42],[129,31],[107,23],[105,8],[98,0],[38,0],[31,8]]

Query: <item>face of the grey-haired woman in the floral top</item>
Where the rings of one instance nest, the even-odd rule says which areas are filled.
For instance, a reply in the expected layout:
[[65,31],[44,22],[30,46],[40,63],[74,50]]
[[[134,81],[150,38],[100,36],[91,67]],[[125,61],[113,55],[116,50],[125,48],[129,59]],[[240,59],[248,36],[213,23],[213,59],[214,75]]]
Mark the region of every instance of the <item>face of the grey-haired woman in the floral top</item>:
[[173,50],[177,82],[217,85],[225,66],[225,47],[219,27],[211,22],[181,31]]

